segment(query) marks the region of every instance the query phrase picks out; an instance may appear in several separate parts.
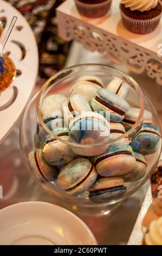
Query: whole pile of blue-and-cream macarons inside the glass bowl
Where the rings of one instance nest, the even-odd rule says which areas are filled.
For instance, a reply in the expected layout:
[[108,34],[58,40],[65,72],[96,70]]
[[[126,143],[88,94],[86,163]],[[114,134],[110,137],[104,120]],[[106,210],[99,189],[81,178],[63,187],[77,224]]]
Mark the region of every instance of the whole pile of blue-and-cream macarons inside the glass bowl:
[[[80,77],[68,98],[53,94],[42,103],[42,120],[53,133],[35,133],[36,150],[29,165],[41,182],[71,197],[86,196],[93,203],[118,200],[127,191],[127,182],[146,175],[145,155],[160,148],[160,131],[144,112],[140,129],[128,136],[136,123],[139,108],[127,102],[129,86],[116,78],[107,87],[99,77]],[[132,133],[131,133],[132,135]]]

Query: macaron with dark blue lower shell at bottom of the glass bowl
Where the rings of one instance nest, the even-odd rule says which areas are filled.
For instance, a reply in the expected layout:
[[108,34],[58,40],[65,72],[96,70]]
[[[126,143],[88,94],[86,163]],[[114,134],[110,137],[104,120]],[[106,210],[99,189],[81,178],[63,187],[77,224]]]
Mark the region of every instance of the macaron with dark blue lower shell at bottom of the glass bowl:
[[121,198],[126,190],[121,177],[99,178],[89,188],[89,199],[94,203],[106,203]]

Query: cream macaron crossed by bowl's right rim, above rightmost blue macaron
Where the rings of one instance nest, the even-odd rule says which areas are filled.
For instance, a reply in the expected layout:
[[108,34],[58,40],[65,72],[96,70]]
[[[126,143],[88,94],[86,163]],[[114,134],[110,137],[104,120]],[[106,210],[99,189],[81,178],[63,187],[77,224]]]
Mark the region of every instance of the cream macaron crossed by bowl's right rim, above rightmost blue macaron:
[[[122,124],[124,125],[126,131],[131,129],[131,127],[137,122],[140,114],[140,108],[131,107],[129,111],[125,114]],[[148,110],[144,110],[143,123],[151,124],[152,123],[152,113]]]

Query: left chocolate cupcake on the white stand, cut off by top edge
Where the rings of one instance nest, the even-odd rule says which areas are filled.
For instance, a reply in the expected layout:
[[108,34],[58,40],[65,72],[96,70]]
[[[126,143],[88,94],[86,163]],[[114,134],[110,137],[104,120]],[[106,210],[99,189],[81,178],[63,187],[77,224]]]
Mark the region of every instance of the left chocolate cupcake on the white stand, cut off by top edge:
[[75,0],[79,13],[86,17],[98,18],[107,14],[112,0]]

